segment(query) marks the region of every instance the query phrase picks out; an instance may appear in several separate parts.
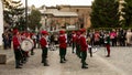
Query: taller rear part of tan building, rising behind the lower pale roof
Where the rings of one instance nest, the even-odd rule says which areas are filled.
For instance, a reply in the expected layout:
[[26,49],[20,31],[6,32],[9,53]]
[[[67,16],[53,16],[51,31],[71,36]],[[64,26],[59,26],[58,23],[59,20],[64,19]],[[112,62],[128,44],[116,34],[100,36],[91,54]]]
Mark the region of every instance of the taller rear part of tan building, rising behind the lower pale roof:
[[90,26],[91,6],[57,6],[59,11],[72,11],[78,14],[77,23],[79,28]]

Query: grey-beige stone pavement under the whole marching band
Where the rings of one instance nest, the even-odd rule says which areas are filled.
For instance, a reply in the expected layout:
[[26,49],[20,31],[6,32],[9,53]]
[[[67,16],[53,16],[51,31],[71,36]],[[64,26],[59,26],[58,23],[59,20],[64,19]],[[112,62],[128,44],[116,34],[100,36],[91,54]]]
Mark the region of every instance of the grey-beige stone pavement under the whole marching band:
[[[0,75],[131,75],[132,47],[111,47],[111,57],[105,57],[105,47],[98,49],[94,57],[87,57],[88,69],[81,69],[80,58],[67,49],[67,62],[59,63],[58,50],[48,52],[50,66],[41,63],[42,50],[35,50],[23,68],[14,68],[13,56],[6,65],[0,65]],[[11,52],[13,55],[13,52]]]

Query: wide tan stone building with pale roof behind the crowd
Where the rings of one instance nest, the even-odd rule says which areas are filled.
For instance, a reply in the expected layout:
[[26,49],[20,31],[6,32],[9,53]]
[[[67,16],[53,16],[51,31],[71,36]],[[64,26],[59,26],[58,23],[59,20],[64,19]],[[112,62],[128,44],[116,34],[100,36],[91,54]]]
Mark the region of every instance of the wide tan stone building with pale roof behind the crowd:
[[43,28],[52,31],[56,29],[78,30],[90,26],[90,6],[56,6],[41,10]]

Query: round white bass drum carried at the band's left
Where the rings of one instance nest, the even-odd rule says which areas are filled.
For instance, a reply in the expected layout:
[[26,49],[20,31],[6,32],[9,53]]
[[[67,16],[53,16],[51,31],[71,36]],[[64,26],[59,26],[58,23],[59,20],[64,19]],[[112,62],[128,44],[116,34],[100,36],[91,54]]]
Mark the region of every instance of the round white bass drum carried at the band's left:
[[33,49],[33,46],[34,46],[34,43],[31,39],[25,39],[21,43],[21,49],[25,52],[31,51]]

